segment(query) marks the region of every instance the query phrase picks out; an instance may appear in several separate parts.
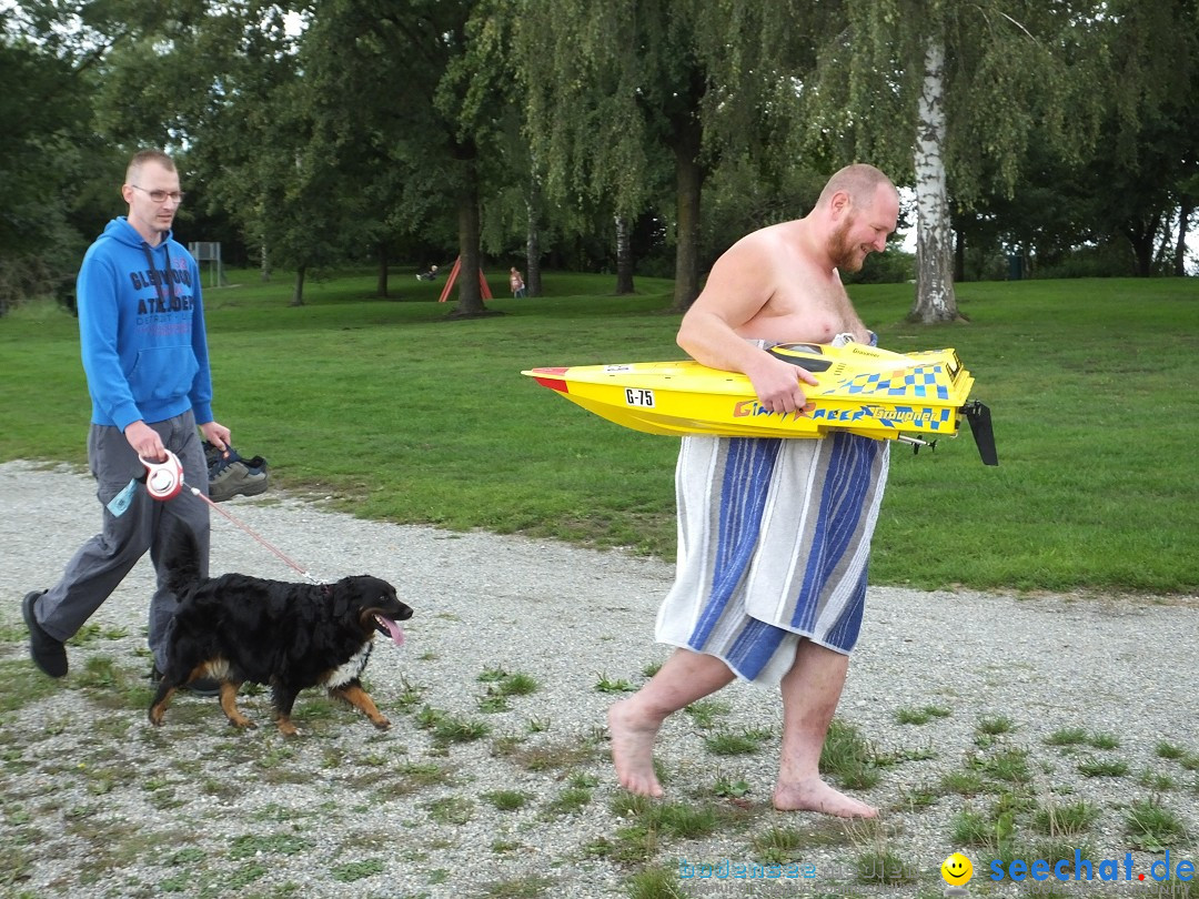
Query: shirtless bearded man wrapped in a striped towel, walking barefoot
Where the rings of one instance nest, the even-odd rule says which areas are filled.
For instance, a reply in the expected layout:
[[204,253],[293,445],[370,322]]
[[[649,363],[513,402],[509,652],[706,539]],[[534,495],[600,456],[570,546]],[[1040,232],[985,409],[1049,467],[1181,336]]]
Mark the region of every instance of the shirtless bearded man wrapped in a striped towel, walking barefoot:
[[[854,310],[838,271],[857,271],[869,253],[885,249],[898,213],[896,188],[878,169],[857,164],[836,173],[805,218],[754,231],[716,261],[704,291],[682,319],[679,345],[705,366],[745,373],[764,408],[781,414],[803,409],[803,385],[815,384],[815,379],[770,355],[763,344],[830,343],[838,336],[842,340],[870,343],[874,336]],[[838,441],[843,441],[838,444],[840,450],[833,448]],[[844,434],[825,440],[688,436],[682,442],[677,482],[683,538],[680,571],[659,611],[657,628],[657,639],[677,648],[645,687],[608,712],[613,762],[621,786],[644,796],[662,796],[652,765],[653,741],[662,722],[740,676],[767,686],[778,683],[782,694],[783,736],[775,807],[842,817],[875,816],[873,807],[826,784],[818,765],[861,621],[866,557],[886,482],[885,441]],[[713,507],[727,501],[722,493],[735,494],[740,512],[741,506],[753,505],[747,490],[754,488],[734,483],[730,478],[736,475],[717,471],[713,478],[707,471],[697,472],[721,465],[728,465],[728,472],[733,466],[725,457],[740,453],[739,458],[757,458],[759,452],[765,453],[766,465],[775,466],[769,475],[772,484],[760,493],[759,519],[746,531],[748,536],[724,535],[725,517],[713,513]],[[791,452],[799,454],[799,461],[776,463],[776,457],[782,459]],[[839,455],[829,460],[829,452]],[[840,465],[838,459],[846,452],[860,459],[851,469],[856,481],[869,484],[863,484],[845,508],[830,512],[827,496],[825,505],[819,505],[818,496],[802,507],[802,515],[796,514],[801,507],[782,496],[805,493],[806,481],[823,483],[827,466]],[[698,461],[688,461],[694,453],[700,453]],[[863,476],[863,470],[868,475]],[[705,477],[710,478],[706,483]],[[689,484],[697,479],[701,493],[692,494]],[[819,577],[812,578],[806,557],[830,550],[824,544],[812,545],[809,535],[796,537],[794,532],[802,530],[796,524],[800,518],[818,514],[848,521],[845,527],[852,530],[857,543],[854,560],[838,562],[836,572],[831,566],[821,568]],[[722,533],[709,535],[711,523],[718,519]],[[778,524],[783,520],[788,523]],[[778,530],[789,531],[782,543],[775,537]],[[693,532],[704,537],[697,539]],[[737,568],[737,559],[730,561],[737,554],[710,550],[718,543],[748,547],[741,555],[753,559]],[[785,551],[778,551],[781,545]],[[692,557],[704,553],[711,555],[706,560]],[[855,563],[857,567],[848,574],[843,571]],[[783,568],[806,566],[808,580],[802,583],[781,573]],[[821,578],[825,580],[814,586],[809,583]],[[727,587],[733,581],[735,586]],[[776,587],[777,596],[763,603],[761,585]],[[842,608],[837,603],[846,592],[854,596]],[[805,596],[809,596],[812,608],[796,613],[795,603],[802,604]],[[790,608],[781,615],[758,617],[759,609],[778,604]],[[746,652],[742,647],[752,641],[761,644],[761,648]]]

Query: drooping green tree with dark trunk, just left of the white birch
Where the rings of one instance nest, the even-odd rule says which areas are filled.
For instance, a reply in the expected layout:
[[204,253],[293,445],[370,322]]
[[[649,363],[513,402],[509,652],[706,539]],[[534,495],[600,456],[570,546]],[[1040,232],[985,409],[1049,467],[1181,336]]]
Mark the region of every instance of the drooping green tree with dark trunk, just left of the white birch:
[[508,0],[529,140],[548,195],[633,218],[674,171],[675,295],[699,292],[704,183],[722,158],[776,161],[814,61],[814,2]]

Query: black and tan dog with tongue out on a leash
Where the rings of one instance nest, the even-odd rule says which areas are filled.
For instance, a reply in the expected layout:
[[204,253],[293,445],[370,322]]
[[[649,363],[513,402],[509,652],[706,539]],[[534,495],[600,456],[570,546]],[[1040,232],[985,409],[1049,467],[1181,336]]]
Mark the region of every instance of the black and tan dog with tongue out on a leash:
[[296,695],[317,686],[376,728],[391,726],[360,680],[375,632],[399,645],[404,633],[397,622],[412,615],[391,584],[369,575],[324,585],[246,574],[200,578],[198,557],[195,536],[179,527],[165,568],[180,604],[167,670],[150,705],[153,724],[162,724],[176,689],[211,677],[221,683],[221,708],[236,728],[254,726],[236,704],[246,681],[271,687],[276,720],[287,736],[297,734],[290,719]]

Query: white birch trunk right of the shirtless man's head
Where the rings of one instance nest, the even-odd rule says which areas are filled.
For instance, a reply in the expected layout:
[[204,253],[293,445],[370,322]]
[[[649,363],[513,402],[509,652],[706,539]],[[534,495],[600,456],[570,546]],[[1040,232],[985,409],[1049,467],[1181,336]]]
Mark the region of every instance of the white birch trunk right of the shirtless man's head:
[[908,316],[926,325],[958,318],[945,131],[945,44],[930,37],[916,117],[916,303]]

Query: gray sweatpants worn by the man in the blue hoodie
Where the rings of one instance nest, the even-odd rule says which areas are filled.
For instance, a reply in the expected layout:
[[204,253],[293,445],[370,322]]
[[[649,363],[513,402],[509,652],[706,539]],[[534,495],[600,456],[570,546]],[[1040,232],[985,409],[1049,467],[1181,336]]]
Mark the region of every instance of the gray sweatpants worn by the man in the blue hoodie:
[[131,479],[145,473],[145,466],[125,435],[114,427],[92,424],[88,434],[88,461],[96,478],[103,530],[80,547],[67,563],[62,580],[37,601],[37,621],[56,640],[70,640],[84,622],[116,590],[125,575],[145,551],[158,575],[158,586],[150,599],[150,650],[158,670],[167,668],[167,638],[177,601],[164,586],[159,568],[165,541],[180,523],[191,527],[199,541],[200,573],[209,572],[209,507],[187,489],[209,491],[209,471],[204,447],[195,430],[195,416],[188,411],[150,424],[183,465],[183,490],[162,502],[135,484],[128,508],[114,515],[108,503]]

